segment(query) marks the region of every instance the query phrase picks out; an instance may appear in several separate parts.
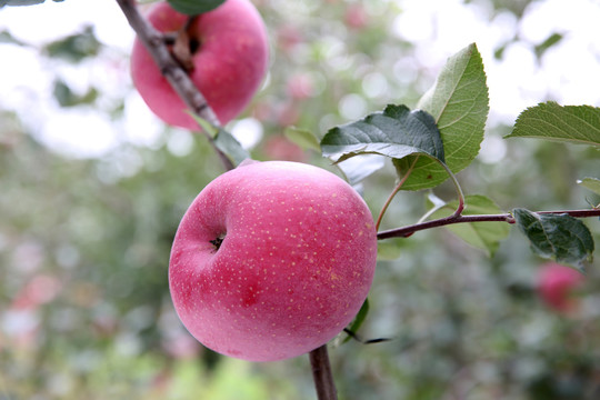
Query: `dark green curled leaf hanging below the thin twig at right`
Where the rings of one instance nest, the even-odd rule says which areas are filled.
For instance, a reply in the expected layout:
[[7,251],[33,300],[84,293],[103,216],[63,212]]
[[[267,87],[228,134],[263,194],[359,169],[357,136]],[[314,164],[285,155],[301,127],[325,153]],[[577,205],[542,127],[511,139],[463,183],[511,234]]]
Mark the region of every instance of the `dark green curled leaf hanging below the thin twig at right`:
[[543,258],[578,267],[592,259],[593,238],[583,222],[568,214],[539,214],[514,209],[521,231],[529,238],[533,252]]

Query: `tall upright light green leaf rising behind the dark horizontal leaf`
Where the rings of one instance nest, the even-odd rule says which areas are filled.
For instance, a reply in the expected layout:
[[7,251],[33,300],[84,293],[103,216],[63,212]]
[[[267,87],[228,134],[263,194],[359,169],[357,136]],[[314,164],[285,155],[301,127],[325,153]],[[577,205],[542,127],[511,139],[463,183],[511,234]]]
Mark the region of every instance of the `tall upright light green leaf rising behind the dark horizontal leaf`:
[[[476,44],[448,59],[417,107],[436,119],[450,170],[457,173],[469,166],[479,153],[489,110],[486,72]],[[398,173],[404,174],[413,162],[413,156],[394,162]],[[402,190],[432,188],[447,178],[441,166],[421,157]]]

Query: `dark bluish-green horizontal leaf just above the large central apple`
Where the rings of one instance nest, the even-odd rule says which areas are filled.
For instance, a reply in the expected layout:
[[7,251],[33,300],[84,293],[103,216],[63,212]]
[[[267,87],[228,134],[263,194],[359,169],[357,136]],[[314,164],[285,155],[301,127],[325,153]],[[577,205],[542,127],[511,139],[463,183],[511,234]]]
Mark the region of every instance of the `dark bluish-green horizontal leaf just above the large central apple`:
[[337,162],[358,154],[401,159],[426,154],[443,161],[443,144],[433,118],[406,106],[388,106],[383,112],[330,129],[321,140],[324,157]]

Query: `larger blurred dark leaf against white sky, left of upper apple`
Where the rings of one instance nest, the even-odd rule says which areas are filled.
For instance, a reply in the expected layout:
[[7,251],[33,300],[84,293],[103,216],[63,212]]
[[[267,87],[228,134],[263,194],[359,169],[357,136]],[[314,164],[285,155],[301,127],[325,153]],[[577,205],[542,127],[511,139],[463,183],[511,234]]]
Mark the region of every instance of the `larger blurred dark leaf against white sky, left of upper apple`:
[[81,33],[72,34],[48,44],[44,51],[50,57],[79,62],[87,57],[97,56],[101,43],[96,38],[92,27],[86,27]]

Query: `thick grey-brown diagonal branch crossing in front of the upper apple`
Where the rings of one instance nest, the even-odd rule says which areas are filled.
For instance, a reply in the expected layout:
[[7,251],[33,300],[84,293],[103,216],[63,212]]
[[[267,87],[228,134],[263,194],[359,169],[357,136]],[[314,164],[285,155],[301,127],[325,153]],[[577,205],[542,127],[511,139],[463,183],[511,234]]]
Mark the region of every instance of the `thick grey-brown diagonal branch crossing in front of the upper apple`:
[[[179,94],[181,100],[189,107],[189,109],[207,120],[214,127],[220,127],[221,123],[214,114],[214,111],[207,103],[207,100],[198,88],[193,84],[192,80],[186,72],[184,68],[173,59],[169,48],[167,47],[167,37],[156,30],[147,20],[140,14],[134,0],[117,0],[117,3],[123,11],[131,28],[136,31],[138,39],[143,43],[161,73],[169,81],[173,90]],[[221,159],[227,170],[236,168],[231,160],[214,144],[214,140],[206,133],[206,137],[210,141],[214,151]]]

